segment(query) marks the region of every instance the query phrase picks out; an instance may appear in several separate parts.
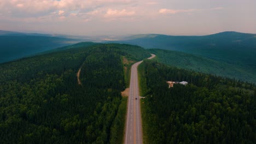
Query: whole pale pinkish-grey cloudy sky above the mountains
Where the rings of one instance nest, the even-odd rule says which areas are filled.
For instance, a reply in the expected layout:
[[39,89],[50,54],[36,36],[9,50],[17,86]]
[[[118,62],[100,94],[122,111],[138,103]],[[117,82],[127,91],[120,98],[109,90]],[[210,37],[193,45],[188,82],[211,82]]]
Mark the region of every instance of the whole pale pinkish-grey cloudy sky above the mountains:
[[256,33],[256,1],[0,0],[0,29],[70,35]]

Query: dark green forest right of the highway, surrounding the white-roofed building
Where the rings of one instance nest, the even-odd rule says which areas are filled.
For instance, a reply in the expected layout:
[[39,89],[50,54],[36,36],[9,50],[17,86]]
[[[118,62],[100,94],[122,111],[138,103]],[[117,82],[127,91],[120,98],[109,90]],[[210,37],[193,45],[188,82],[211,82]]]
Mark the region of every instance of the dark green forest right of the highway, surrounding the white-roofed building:
[[[254,143],[251,83],[169,67],[139,65],[145,143]],[[166,81],[189,84],[168,88]]]

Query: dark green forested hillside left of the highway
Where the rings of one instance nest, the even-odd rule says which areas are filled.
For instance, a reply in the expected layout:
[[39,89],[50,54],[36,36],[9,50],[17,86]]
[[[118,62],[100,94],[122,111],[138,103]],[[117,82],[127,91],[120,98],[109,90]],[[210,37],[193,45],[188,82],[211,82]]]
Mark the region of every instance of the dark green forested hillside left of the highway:
[[138,46],[99,44],[1,64],[0,143],[120,141],[123,56],[150,55]]

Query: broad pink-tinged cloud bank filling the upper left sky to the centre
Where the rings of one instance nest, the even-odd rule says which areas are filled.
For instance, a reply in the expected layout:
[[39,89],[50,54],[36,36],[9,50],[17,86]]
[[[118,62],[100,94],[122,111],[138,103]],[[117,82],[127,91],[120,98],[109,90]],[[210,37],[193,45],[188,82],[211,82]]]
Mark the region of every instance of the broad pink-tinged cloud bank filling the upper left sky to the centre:
[[120,20],[134,15],[136,4],[136,0],[0,0],[0,18],[10,22]]

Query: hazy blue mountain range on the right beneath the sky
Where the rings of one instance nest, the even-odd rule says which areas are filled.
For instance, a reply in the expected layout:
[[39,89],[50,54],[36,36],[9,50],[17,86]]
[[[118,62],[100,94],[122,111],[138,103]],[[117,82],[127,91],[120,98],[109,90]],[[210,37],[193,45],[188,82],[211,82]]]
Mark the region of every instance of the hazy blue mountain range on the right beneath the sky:
[[141,34],[110,41],[139,45],[146,49],[182,51],[256,71],[256,34],[222,32],[204,36]]

